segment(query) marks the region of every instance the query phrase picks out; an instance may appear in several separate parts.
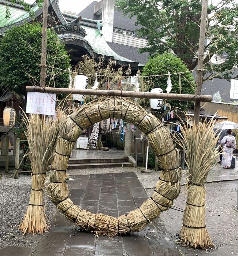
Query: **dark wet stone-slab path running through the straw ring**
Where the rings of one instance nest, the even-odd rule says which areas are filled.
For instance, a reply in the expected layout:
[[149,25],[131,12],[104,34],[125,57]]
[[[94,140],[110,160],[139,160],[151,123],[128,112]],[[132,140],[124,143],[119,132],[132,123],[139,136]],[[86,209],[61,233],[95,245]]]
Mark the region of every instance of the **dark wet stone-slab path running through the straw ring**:
[[[93,213],[119,216],[139,207],[148,196],[134,172],[92,174],[77,177],[70,189],[75,204]],[[159,220],[157,220],[159,221]],[[33,256],[179,256],[161,223],[140,233],[121,237],[96,237],[75,231],[66,218],[56,214],[52,229],[42,237]]]

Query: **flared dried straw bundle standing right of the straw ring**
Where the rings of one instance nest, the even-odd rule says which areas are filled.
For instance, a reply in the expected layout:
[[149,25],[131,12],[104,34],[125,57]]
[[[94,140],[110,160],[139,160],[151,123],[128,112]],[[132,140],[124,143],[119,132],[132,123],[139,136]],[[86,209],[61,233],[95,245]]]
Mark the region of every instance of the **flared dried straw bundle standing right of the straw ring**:
[[187,202],[183,214],[180,237],[184,245],[194,248],[214,247],[205,224],[205,187],[209,171],[215,166],[219,152],[217,138],[213,132],[214,121],[193,123],[190,128],[184,123],[181,127],[181,146],[186,152]]

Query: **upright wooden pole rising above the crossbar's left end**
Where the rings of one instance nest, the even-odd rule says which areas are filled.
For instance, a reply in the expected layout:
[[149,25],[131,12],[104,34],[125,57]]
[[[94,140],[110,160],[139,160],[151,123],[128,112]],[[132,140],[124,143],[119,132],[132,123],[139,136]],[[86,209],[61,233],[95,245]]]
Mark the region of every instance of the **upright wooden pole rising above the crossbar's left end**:
[[45,78],[46,78],[47,16],[48,16],[48,0],[44,0],[42,42],[41,42],[41,80],[40,80],[41,87],[45,87]]

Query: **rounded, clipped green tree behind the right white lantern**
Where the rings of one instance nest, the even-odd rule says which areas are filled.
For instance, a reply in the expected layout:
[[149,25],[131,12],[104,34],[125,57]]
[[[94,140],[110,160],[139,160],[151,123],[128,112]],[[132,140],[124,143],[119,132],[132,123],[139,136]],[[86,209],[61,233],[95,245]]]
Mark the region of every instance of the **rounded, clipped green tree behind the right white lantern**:
[[[172,53],[163,53],[162,55],[157,54],[151,57],[148,63],[145,65],[142,71],[142,76],[159,75],[156,77],[152,76],[143,78],[145,81],[151,80],[148,90],[150,91],[153,86],[154,88],[163,89],[163,92],[166,93],[168,76],[164,74],[166,74],[168,71],[171,74],[181,73],[181,92],[183,94],[194,93],[195,82],[193,76],[191,75],[190,72],[186,72],[188,71],[188,69],[186,65],[183,63],[183,61],[178,57],[172,55]],[[179,93],[179,74],[171,75],[170,79],[172,84],[171,93]],[[140,101],[144,100],[141,99]],[[183,110],[186,110],[192,104],[191,101],[168,100],[167,102],[171,105],[171,107],[179,107]],[[149,107],[149,100],[144,101],[144,103],[145,107]],[[153,112],[155,112],[154,114],[156,114],[156,112],[157,114],[161,114],[161,111],[163,111],[163,109]]]

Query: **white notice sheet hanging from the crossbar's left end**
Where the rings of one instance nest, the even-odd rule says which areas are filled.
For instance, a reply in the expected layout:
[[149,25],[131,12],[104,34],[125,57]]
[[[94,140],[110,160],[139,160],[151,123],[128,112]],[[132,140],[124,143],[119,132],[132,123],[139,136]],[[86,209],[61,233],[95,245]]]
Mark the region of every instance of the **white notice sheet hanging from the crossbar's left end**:
[[26,113],[55,115],[56,94],[27,92]]

